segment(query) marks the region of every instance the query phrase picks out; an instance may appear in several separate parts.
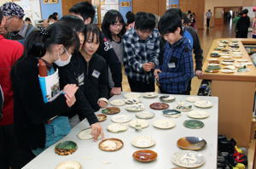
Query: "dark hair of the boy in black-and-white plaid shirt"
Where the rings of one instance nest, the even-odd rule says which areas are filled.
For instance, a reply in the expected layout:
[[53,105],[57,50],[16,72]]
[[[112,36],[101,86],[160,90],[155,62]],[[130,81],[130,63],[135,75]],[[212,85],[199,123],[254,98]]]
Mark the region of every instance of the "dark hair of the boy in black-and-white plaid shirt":
[[135,28],[137,30],[149,30],[153,31],[155,27],[155,16],[154,14],[138,12],[135,15]]

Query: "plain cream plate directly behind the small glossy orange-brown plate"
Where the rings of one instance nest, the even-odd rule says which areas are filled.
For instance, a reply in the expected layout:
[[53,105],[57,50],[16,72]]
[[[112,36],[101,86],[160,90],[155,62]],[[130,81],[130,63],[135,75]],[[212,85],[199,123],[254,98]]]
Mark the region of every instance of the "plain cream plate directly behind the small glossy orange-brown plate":
[[148,148],[154,146],[155,141],[151,136],[137,136],[132,139],[131,144],[137,148]]

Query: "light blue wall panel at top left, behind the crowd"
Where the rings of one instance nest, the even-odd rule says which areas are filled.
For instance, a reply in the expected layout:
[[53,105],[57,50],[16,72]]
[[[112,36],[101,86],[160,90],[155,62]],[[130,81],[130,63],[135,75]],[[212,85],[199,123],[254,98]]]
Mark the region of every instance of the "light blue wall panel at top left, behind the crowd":
[[50,14],[57,12],[59,14],[59,18],[62,16],[62,7],[61,7],[61,0],[58,3],[54,4],[45,4],[43,0],[40,0],[41,3],[41,12],[42,12],[42,19],[48,19]]

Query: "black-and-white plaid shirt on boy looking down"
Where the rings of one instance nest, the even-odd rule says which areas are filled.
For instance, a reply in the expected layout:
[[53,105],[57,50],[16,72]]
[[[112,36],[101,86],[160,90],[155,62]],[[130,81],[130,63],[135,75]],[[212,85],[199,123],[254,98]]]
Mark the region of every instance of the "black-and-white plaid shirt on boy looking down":
[[158,65],[160,55],[160,34],[156,29],[146,39],[137,36],[137,31],[131,29],[123,37],[125,75],[138,82],[154,82],[153,70],[146,72],[143,64],[154,62]]

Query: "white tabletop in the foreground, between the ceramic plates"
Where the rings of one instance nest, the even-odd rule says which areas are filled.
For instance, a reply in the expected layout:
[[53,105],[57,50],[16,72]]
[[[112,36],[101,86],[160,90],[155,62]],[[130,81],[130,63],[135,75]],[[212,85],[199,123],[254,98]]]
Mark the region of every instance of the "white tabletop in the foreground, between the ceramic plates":
[[[112,99],[123,99],[123,95],[114,96]],[[159,94],[160,96],[160,94]],[[176,100],[172,103],[168,103],[170,108],[174,108],[177,102],[180,100],[185,100],[184,95],[175,95]],[[199,96],[200,97],[200,96]],[[178,138],[183,138],[186,136],[196,136],[205,138],[207,141],[207,146],[204,149],[199,150],[202,155],[204,155],[206,162],[200,168],[213,169],[217,168],[217,143],[218,143],[218,98],[216,97],[200,97],[201,99],[207,99],[213,103],[213,107],[206,109],[210,116],[207,119],[203,119],[205,127],[201,129],[189,129],[183,127],[183,121],[189,120],[189,117],[185,112],[178,118],[172,118],[176,122],[176,127],[167,130],[157,129],[152,126],[152,123],[156,119],[166,119],[168,117],[162,114],[162,110],[151,110],[149,104],[154,102],[159,102],[159,97],[154,99],[143,98],[143,104],[145,105],[145,110],[154,111],[154,118],[147,120],[150,124],[149,127],[144,128],[142,132],[135,132],[134,128],[129,128],[126,132],[112,133],[107,131],[108,124],[111,122],[111,116],[108,115],[108,120],[103,121],[102,127],[104,128],[105,138],[120,138],[124,142],[124,147],[119,151],[115,152],[105,152],[98,149],[98,142],[93,142],[93,140],[80,140],[76,137],[80,130],[89,127],[86,120],[81,121],[78,126],[74,127],[72,132],[70,132],[67,137],[62,138],[60,142],[66,140],[72,140],[78,144],[78,149],[73,155],[60,156],[55,154],[55,144],[46,149],[41,155],[38,155],[33,161],[24,166],[24,169],[53,169],[55,166],[62,161],[79,161],[83,169],[170,169],[176,165],[172,163],[173,153],[180,151],[177,147]],[[111,100],[112,100],[111,99]],[[125,105],[120,107],[120,114],[130,115],[132,118],[136,118],[135,112],[128,112],[125,110]],[[193,106],[194,110],[201,110]],[[138,148],[131,145],[132,138],[138,135],[148,135],[152,136],[156,145],[149,148],[158,153],[158,158],[156,161],[150,163],[141,163],[135,161],[132,158],[133,152],[139,150]],[[58,143],[60,143],[58,142]]]

